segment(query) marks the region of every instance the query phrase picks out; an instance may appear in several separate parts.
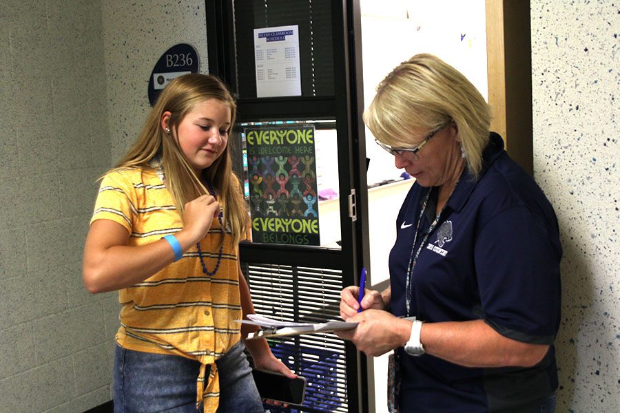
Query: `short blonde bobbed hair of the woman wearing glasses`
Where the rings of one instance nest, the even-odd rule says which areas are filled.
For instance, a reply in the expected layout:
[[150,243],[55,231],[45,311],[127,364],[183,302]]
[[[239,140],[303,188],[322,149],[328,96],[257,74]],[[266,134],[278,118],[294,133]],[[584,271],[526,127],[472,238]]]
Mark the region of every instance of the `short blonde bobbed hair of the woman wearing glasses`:
[[416,54],[395,67],[379,83],[364,112],[364,123],[375,138],[393,147],[411,147],[419,143],[411,136],[424,136],[453,121],[475,179],[482,171],[490,118],[488,104],[475,86],[431,54]]

